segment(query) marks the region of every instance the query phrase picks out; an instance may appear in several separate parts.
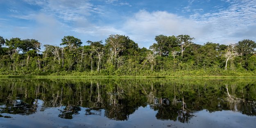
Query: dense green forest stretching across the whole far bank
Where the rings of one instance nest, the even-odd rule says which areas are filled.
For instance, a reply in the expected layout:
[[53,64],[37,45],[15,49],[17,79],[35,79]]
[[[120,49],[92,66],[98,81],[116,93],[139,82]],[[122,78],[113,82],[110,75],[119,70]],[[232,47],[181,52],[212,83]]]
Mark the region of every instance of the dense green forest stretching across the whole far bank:
[[82,41],[64,36],[60,46],[0,36],[1,75],[254,76],[256,43],[193,43],[189,35],[155,37],[149,49],[124,35]]

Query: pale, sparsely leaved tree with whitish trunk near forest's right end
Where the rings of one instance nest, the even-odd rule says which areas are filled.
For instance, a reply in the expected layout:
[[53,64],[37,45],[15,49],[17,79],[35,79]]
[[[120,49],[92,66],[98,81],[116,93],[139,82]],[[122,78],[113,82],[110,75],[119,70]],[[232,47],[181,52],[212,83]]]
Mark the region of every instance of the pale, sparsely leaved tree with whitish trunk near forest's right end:
[[236,45],[230,44],[226,49],[226,53],[224,54],[224,57],[226,58],[225,70],[227,70],[228,61],[236,56],[239,56],[238,52],[236,51]]

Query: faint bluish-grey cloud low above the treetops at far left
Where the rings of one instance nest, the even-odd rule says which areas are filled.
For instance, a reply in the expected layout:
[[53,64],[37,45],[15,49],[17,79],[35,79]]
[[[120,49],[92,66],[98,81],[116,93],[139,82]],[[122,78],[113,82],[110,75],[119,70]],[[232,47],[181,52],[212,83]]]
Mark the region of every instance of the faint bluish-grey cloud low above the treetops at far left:
[[[28,26],[9,26],[11,30],[11,35],[13,37],[19,37],[22,39],[36,39],[45,44],[59,45],[61,38],[66,36],[66,29],[69,29],[67,26],[64,26],[53,16],[46,15],[44,13],[39,13],[33,15],[35,25]],[[11,37],[9,37],[11,38]]]

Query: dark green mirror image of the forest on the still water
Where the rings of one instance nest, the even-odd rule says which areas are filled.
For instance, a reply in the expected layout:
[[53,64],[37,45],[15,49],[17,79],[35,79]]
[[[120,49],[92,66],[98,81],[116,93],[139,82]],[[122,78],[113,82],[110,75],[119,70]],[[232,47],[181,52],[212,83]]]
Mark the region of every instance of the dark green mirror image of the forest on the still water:
[[[232,99],[232,100],[231,100]],[[239,99],[239,100],[236,100]],[[42,104],[39,106],[39,101]],[[254,79],[0,79],[0,113],[30,115],[60,107],[59,117],[127,120],[147,104],[157,119],[188,122],[193,112],[233,110],[256,116]]]

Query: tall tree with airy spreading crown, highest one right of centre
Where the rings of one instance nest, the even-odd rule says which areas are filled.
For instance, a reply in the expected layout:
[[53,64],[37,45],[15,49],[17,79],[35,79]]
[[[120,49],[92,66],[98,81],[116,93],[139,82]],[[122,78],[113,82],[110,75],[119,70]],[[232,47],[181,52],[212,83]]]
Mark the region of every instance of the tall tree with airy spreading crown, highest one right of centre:
[[183,57],[183,52],[185,51],[186,47],[191,45],[193,43],[192,40],[195,38],[191,38],[188,35],[179,35],[176,38],[178,46],[181,49],[181,57]]

